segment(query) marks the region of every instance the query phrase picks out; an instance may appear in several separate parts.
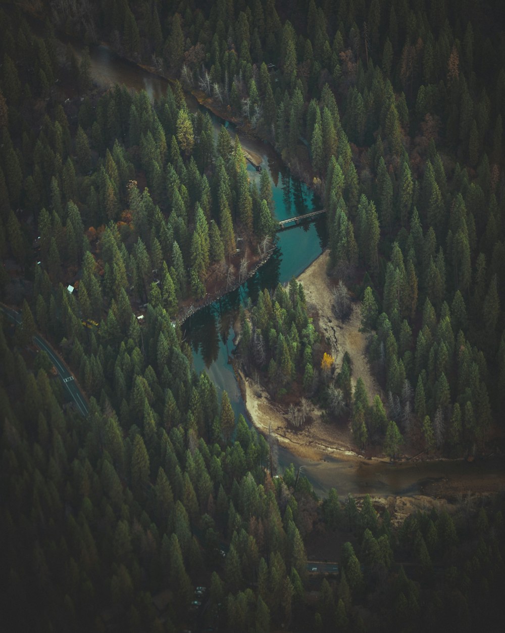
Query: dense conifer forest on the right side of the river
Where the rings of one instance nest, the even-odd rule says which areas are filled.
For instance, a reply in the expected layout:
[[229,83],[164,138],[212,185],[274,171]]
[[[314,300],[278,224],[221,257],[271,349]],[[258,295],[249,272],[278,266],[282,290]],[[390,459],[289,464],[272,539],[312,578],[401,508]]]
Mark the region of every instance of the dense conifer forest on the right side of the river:
[[332,272],[358,296],[372,291],[370,361],[403,433],[452,455],[484,446],[505,385],[505,51],[493,6],[234,9],[210,11],[192,40],[207,57],[182,54],[183,82],[229,103],[324,191]]

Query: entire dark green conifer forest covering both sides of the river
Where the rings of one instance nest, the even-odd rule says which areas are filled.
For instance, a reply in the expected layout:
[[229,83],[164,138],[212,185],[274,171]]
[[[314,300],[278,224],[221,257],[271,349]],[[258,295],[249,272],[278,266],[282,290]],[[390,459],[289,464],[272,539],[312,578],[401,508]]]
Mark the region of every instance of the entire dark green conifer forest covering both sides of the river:
[[[35,0],[0,5],[0,613],[9,630],[498,631],[503,493],[393,523],[319,499],[193,368],[181,315],[276,230],[269,175],[185,92],[274,146],[326,211],[362,300],[324,381],[356,446],[420,432],[449,457],[503,435],[505,37],[492,0]],[[87,49],[171,78],[94,85]],[[239,248],[239,244],[241,244]],[[238,253],[241,251],[241,253]],[[69,291],[69,286],[73,292]],[[303,288],[264,289],[243,340],[279,389],[325,371]],[[70,403],[37,334],[87,398]],[[327,368],[329,361],[326,359]],[[389,449],[387,448],[389,446]],[[315,542],[336,551],[313,573]],[[330,558],[325,556],[324,558]],[[331,560],[331,559],[330,559]],[[197,589],[197,587],[204,587]]]

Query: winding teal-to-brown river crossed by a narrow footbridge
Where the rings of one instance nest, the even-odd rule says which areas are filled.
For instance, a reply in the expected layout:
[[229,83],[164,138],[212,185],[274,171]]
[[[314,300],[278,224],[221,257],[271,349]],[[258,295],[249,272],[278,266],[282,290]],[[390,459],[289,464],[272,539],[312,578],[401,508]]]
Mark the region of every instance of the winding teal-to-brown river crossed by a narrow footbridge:
[[[78,45],[74,44],[77,53]],[[125,84],[135,90],[145,90],[151,99],[164,94],[167,80],[149,73],[139,66],[123,60],[107,46],[95,46],[90,50],[90,72],[95,84],[109,87]],[[192,96],[187,97],[188,107],[195,111],[199,106]],[[234,134],[233,125],[210,113],[216,129],[226,125]],[[272,180],[272,192],[279,220],[295,215],[303,215],[318,208],[319,201],[307,185],[292,177],[282,165],[275,151],[267,144],[243,137],[241,143],[262,158],[262,168],[267,168]],[[248,165],[250,177],[259,178],[252,165]],[[240,389],[229,364],[233,351],[233,323],[241,303],[257,298],[264,287],[272,288],[277,283],[288,282],[293,275],[299,275],[326,246],[326,223],[324,216],[309,225],[300,225],[279,234],[276,251],[261,266],[257,273],[240,288],[229,292],[210,306],[198,311],[183,325],[186,340],[193,348],[193,360],[197,371],[209,373],[221,394],[223,389],[229,394],[236,415],[247,417]],[[303,473],[312,483],[315,491],[324,495],[330,487],[335,487],[340,496],[351,494],[375,494],[379,496],[411,496],[430,489],[430,484],[441,480],[458,480],[464,489],[475,479],[481,480],[482,489],[504,490],[505,467],[502,458],[476,461],[421,461],[389,464],[385,461],[349,460],[327,456],[320,461],[300,460],[288,449],[279,447],[279,467],[281,470],[293,463],[303,466]]]

